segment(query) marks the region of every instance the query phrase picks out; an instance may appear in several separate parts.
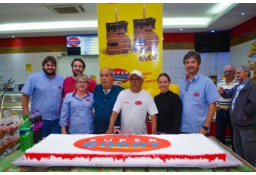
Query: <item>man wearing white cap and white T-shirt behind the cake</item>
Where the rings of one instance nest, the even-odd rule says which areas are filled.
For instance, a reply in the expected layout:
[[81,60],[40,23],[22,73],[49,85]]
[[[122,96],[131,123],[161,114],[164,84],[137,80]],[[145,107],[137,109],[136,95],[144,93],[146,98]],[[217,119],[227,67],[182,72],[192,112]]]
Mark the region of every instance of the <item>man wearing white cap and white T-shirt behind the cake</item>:
[[150,93],[142,90],[144,82],[142,72],[133,70],[129,80],[130,89],[122,90],[117,96],[106,133],[114,133],[114,123],[119,112],[121,112],[121,133],[125,133],[125,128],[129,128],[132,134],[147,134],[145,120],[147,114],[149,114],[151,116],[152,134],[156,134],[156,114],[158,110]]

